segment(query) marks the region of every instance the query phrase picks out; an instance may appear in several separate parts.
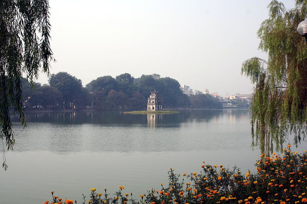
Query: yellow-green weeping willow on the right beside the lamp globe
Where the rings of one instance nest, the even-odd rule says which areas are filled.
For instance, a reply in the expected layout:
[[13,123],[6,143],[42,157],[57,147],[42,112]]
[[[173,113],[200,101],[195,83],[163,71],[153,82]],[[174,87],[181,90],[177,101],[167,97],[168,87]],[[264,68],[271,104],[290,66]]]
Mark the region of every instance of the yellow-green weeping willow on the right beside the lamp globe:
[[258,57],[243,62],[241,72],[255,84],[251,103],[252,146],[269,154],[281,149],[290,133],[294,144],[307,130],[307,44],[297,26],[307,17],[307,2],[297,0],[287,10],[273,0],[269,18],[262,22],[259,49],[268,60]]

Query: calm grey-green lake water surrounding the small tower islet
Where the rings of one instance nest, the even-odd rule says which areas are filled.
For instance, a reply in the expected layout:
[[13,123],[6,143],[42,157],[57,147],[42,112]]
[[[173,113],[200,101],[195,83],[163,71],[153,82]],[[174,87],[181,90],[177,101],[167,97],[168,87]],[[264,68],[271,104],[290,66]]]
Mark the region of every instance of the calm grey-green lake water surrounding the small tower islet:
[[[32,112],[26,129],[12,118],[16,143],[6,153],[9,169],[1,170],[1,203],[44,203],[50,191],[81,203],[90,188],[112,195],[119,186],[138,199],[167,184],[169,168],[200,172],[205,161],[254,172],[260,154],[251,148],[248,110]],[[307,150],[306,143],[298,150]]]

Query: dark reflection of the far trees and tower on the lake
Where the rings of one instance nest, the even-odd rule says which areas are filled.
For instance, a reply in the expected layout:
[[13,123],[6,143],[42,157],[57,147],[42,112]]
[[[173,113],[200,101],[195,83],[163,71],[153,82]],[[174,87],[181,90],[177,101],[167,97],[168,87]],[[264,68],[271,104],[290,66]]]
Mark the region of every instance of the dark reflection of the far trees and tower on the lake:
[[[246,120],[249,111],[241,109],[221,110],[179,110],[179,114],[125,114],[122,111],[33,111],[26,113],[26,121],[30,123],[56,123],[56,124],[148,124],[152,127],[159,127],[158,124],[179,124],[186,122],[228,122]],[[18,122],[17,115],[11,116],[12,121]],[[153,120],[154,119],[154,120]],[[154,121],[154,122],[153,122]]]

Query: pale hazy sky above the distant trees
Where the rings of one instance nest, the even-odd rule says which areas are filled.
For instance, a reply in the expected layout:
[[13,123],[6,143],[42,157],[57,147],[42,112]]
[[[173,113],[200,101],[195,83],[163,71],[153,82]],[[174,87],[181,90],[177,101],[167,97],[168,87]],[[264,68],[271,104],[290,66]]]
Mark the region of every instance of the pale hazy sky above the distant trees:
[[[83,86],[99,76],[169,76],[193,90],[252,93],[242,62],[266,59],[259,25],[269,0],[50,0],[51,73],[68,72]],[[287,8],[294,1],[284,0]],[[41,74],[40,83],[48,83]]]

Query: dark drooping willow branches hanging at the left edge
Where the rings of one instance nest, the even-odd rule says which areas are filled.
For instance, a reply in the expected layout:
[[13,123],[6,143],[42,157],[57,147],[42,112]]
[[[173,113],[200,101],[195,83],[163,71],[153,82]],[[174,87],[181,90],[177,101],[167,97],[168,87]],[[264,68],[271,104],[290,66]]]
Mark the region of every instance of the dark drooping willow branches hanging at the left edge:
[[[0,1],[0,138],[7,150],[15,143],[10,111],[26,125],[21,77],[25,74],[33,84],[40,71],[49,75],[49,32],[48,0]],[[5,159],[3,167],[7,168]]]

